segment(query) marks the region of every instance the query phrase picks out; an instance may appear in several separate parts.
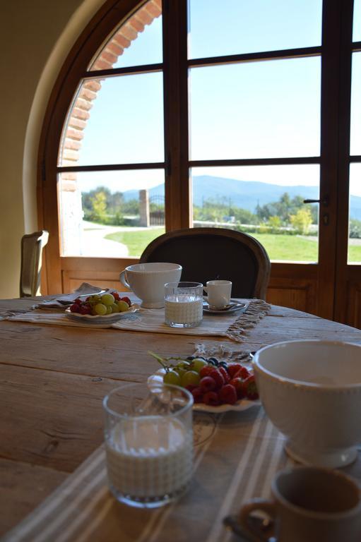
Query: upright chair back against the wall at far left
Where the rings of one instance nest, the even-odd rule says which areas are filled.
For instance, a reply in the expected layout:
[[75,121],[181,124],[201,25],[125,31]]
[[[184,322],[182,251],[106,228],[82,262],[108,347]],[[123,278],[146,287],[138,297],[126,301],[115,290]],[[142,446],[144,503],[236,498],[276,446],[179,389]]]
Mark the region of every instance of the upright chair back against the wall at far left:
[[20,297],[40,295],[42,249],[48,239],[49,233],[45,230],[21,238]]

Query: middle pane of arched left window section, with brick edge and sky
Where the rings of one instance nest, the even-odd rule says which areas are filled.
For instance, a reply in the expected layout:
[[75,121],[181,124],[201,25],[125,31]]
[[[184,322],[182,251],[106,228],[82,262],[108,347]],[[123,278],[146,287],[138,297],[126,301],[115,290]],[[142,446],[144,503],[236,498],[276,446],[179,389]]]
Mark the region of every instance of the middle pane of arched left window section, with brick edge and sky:
[[64,128],[60,165],[163,162],[163,139],[162,73],[85,80]]

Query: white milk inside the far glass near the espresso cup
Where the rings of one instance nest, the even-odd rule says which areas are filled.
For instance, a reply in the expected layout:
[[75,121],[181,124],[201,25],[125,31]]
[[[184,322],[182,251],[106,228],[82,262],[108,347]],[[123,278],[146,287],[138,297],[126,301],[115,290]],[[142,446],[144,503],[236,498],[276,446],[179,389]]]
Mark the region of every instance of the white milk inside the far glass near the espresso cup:
[[165,323],[192,327],[203,318],[203,299],[190,294],[174,294],[165,299]]

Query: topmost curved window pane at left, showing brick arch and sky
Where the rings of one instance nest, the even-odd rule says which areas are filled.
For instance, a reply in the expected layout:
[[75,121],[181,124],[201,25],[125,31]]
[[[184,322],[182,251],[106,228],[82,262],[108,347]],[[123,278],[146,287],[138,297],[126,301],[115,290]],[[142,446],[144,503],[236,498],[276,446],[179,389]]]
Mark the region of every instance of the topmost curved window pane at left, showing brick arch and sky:
[[150,0],[102,46],[89,70],[109,70],[162,62],[162,3]]

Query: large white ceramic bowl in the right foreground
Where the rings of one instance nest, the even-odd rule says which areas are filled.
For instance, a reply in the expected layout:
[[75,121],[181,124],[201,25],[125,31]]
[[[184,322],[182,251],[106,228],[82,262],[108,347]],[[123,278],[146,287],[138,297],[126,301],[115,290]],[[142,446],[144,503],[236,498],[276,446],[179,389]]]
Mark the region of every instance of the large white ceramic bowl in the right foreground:
[[304,464],[338,467],[361,442],[361,346],[288,341],[256,352],[256,384],[266,414]]

